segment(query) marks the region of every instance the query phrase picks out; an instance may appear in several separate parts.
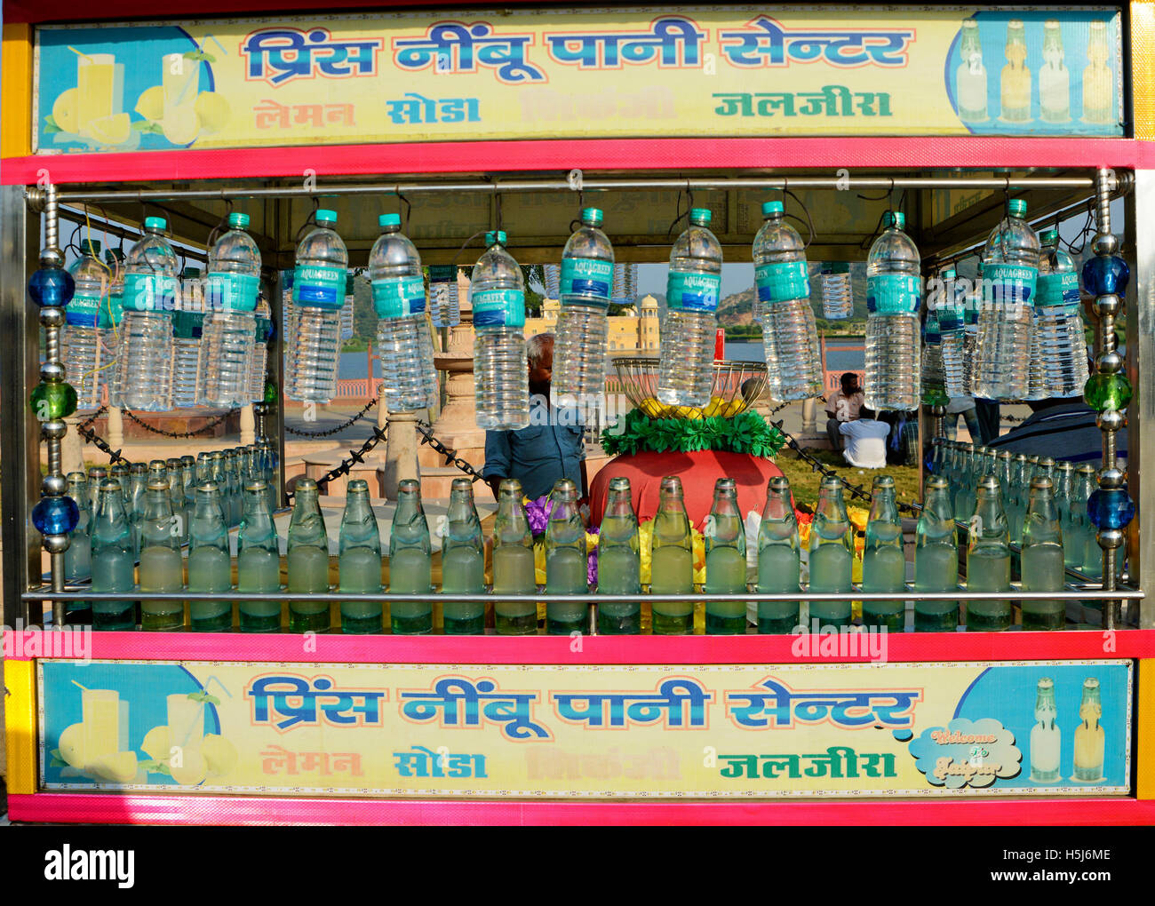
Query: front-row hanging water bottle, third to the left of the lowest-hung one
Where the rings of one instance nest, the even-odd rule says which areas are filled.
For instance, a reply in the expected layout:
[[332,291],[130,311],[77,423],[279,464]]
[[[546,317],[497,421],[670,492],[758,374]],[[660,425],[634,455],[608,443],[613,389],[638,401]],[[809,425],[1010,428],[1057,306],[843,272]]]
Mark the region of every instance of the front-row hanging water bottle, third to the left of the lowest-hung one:
[[204,316],[206,406],[233,409],[252,402],[249,383],[256,339],[261,250],[245,232],[247,214],[230,214],[229,231],[209,252],[208,314]]

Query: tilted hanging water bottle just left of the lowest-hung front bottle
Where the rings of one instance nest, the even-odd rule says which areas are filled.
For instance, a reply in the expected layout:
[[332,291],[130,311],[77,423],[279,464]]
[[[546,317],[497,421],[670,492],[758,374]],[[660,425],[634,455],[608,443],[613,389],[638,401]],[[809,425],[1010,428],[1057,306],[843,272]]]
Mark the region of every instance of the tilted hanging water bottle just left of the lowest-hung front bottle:
[[381,357],[381,392],[390,412],[429,405],[433,347],[425,324],[425,278],[417,247],[401,232],[401,217],[382,214],[381,235],[368,256]]

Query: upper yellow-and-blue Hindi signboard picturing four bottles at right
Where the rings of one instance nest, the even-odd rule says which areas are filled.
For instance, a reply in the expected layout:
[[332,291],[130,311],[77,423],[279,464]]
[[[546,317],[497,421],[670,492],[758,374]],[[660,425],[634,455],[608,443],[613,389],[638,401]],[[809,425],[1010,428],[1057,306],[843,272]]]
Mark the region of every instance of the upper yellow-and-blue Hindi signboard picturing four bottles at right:
[[1117,9],[323,14],[43,27],[36,40],[40,152],[1123,134]]

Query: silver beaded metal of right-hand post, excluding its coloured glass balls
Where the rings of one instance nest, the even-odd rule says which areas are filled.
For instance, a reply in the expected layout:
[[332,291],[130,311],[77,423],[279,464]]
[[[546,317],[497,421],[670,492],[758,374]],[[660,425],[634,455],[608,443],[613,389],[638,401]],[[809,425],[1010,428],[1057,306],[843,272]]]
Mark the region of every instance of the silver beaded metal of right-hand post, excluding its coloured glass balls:
[[[1118,252],[1119,242],[1111,233],[1111,192],[1116,188],[1115,173],[1101,167],[1096,179],[1097,227],[1094,250],[1100,257],[1110,257]],[[1119,297],[1103,294],[1095,298],[1095,314],[1098,315],[1098,334],[1095,338],[1095,367],[1100,374],[1111,375],[1123,370],[1123,357],[1116,351],[1115,317],[1119,313]],[[1124,413],[1105,409],[1098,413],[1098,427],[1103,432],[1103,467],[1098,470],[1098,486],[1102,489],[1123,487],[1125,476],[1116,461],[1116,433],[1124,425]],[[1118,549],[1124,544],[1119,529],[1100,529],[1098,546],[1103,549],[1103,590],[1117,587],[1115,569]],[[1122,624],[1122,601],[1103,601],[1103,628],[1117,629]]]

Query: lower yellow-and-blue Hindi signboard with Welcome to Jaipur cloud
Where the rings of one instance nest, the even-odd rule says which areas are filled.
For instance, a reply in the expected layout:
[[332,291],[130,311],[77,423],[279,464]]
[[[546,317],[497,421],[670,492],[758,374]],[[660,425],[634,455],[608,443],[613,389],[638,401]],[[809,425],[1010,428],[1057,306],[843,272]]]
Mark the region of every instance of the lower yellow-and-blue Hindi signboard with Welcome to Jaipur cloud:
[[44,789],[357,796],[1127,793],[1127,660],[38,662]]

